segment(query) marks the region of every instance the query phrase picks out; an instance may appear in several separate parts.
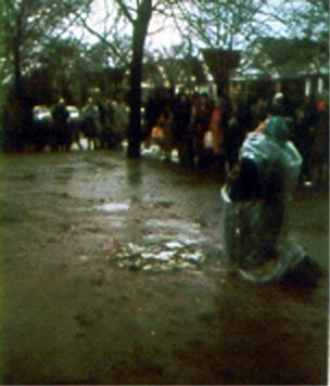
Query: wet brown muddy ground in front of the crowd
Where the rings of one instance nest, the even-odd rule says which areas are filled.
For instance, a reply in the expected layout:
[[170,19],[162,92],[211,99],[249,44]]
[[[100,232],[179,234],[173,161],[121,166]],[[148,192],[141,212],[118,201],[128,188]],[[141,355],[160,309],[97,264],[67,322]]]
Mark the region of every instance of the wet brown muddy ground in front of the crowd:
[[[0,168],[2,384],[327,384],[328,193],[290,208],[317,287],[254,286],[224,269],[215,175],[97,152]],[[127,258],[176,243],[195,261]]]

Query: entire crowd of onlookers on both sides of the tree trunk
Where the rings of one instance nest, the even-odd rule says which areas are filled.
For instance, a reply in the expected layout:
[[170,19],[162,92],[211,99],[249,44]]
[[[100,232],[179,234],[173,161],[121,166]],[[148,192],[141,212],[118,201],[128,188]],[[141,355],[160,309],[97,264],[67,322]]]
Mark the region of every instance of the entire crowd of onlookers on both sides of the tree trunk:
[[[141,143],[144,147],[157,144],[165,159],[169,160],[176,150],[182,165],[226,175],[237,164],[246,133],[258,128],[274,108],[284,118],[290,140],[302,155],[301,185],[309,181],[323,185],[329,162],[326,97],[296,99],[278,93],[268,100],[249,94],[212,98],[206,93],[180,90],[172,94],[156,89],[142,104]],[[82,149],[82,138],[89,150],[118,149],[127,138],[128,115],[129,107],[123,99],[90,97],[77,108],[60,98],[49,117],[25,125],[29,132],[21,137],[27,149],[69,150],[75,143]]]

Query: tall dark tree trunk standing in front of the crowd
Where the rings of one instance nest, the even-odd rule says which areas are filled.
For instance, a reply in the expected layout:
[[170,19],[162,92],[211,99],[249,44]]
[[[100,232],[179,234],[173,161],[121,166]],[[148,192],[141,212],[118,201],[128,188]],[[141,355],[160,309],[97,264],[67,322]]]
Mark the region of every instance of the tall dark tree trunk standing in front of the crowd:
[[128,157],[138,158],[140,156],[141,144],[141,81],[142,61],[144,41],[148,34],[148,26],[152,15],[152,0],[143,0],[138,17],[134,23],[132,36],[132,60],[130,63],[129,78],[129,126],[128,126]]

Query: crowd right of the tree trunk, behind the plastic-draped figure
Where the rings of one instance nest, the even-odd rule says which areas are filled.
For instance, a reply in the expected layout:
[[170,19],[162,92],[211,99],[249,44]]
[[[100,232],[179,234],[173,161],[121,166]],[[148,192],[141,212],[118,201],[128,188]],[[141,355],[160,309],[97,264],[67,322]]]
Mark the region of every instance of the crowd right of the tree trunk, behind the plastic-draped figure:
[[323,183],[329,153],[326,99],[294,101],[282,93],[270,100],[212,99],[205,93],[187,94],[183,90],[170,98],[160,90],[145,103],[143,140],[147,146],[158,144],[166,159],[176,149],[182,164],[226,173],[237,164],[246,133],[257,129],[271,114],[284,118],[290,140],[302,154],[301,184],[312,180]]

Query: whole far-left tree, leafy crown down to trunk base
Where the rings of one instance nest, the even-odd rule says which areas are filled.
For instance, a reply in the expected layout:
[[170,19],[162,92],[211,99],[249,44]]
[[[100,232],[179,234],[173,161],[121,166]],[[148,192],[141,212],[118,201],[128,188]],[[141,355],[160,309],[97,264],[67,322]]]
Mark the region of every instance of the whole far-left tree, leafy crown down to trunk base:
[[63,35],[73,23],[74,11],[88,7],[90,0],[2,0],[0,2],[1,44],[7,74],[12,79],[11,92],[1,98],[10,118],[7,132],[9,147],[23,150],[23,134],[30,126],[31,101],[23,78],[33,67],[36,53],[53,36]]

